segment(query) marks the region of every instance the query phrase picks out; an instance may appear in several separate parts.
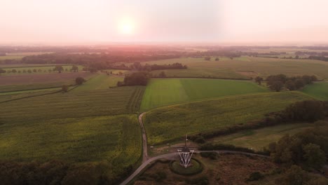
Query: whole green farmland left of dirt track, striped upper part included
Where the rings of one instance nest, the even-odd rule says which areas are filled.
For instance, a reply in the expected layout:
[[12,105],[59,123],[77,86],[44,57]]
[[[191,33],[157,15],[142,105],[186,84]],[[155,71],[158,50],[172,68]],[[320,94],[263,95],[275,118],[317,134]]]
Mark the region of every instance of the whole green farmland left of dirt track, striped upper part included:
[[[144,87],[55,93],[0,103],[0,158],[106,163],[109,177],[139,163]],[[4,95],[25,97],[39,92]],[[8,97],[11,96],[11,97]],[[104,162],[105,161],[105,162]],[[104,171],[104,172],[105,172]]]

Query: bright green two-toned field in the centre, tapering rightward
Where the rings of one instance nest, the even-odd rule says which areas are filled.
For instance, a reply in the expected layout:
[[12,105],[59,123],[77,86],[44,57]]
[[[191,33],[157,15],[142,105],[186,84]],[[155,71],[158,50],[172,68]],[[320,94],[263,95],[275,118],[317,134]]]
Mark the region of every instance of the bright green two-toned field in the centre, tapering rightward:
[[146,87],[141,111],[194,100],[263,93],[268,90],[250,81],[202,78],[154,78]]

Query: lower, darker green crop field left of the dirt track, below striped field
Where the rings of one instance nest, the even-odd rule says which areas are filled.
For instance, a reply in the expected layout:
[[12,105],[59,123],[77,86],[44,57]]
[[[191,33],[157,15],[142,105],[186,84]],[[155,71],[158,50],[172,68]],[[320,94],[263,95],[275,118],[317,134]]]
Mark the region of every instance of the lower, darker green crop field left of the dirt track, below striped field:
[[47,119],[0,125],[0,158],[16,162],[107,161],[112,174],[142,153],[137,115]]

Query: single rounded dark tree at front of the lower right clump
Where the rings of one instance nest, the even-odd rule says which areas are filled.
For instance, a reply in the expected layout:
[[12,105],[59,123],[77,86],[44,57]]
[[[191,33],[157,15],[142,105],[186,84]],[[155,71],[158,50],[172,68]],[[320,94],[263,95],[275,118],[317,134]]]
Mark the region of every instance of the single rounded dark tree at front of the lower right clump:
[[302,148],[305,153],[304,158],[309,167],[319,170],[326,163],[325,153],[317,144],[306,144]]

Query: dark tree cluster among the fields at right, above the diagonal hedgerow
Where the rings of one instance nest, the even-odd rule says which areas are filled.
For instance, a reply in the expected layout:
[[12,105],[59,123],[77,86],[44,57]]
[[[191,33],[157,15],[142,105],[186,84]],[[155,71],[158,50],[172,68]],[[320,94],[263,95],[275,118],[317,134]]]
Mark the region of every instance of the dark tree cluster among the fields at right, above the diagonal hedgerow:
[[[257,77],[255,81],[261,84],[263,78]],[[288,90],[299,90],[303,88],[305,85],[313,83],[313,81],[317,81],[317,76],[294,76],[287,77],[285,74],[271,75],[266,78],[266,82],[271,90],[275,90],[279,92],[282,88],[287,88]]]

